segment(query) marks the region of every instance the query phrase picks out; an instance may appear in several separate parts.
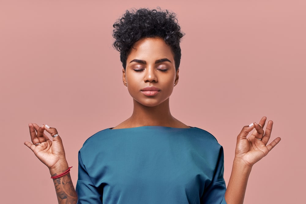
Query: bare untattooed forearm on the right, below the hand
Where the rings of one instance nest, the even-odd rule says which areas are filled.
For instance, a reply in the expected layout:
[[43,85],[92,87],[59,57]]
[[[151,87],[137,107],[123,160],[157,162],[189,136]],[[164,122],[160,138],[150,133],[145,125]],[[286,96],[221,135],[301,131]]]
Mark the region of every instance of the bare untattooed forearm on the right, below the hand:
[[251,170],[252,167],[246,165],[244,161],[240,161],[236,158],[234,159],[232,173],[225,192],[225,200],[227,204],[243,203]]

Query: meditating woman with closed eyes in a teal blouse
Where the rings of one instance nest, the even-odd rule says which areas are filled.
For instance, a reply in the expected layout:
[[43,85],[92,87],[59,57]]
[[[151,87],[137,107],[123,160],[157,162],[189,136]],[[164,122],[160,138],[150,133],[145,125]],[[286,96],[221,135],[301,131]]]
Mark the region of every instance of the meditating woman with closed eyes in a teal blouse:
[[264,132],[266,117],[244,126],[226,189],[222,147],[208,132],[170,113],[183,35],[168,11],[127,11],[114,24],[114,47],[120,51],[133,113],[84,143],[76,191],[57,130],[29,124],[32,143],[24,144],[49,168],[59,203],[243,203],[252,166],[280,138],[267,145],[273,122]]

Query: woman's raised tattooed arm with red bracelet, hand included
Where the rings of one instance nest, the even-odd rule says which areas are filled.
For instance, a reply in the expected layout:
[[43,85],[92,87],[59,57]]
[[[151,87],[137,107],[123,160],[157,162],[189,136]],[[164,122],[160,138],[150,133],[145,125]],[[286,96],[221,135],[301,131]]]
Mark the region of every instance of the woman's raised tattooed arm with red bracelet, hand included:
[[[51,136],[58,134],[55,128],[49,128],[47,125],[39,127],[37,124],[29,124],[32,143],[26,141],[24,144],[29,147],[35,156],[45,164],[50,171],[51,176],[59,175],[68,169],[68,163],[65,157],[65,150],[62,139],[56,136],[51,141],[44,130]],[[37,134],[36,134],[37,132]],[[58,203],[77,203],[77,195],[70,177],[70,173],[53,179]]]

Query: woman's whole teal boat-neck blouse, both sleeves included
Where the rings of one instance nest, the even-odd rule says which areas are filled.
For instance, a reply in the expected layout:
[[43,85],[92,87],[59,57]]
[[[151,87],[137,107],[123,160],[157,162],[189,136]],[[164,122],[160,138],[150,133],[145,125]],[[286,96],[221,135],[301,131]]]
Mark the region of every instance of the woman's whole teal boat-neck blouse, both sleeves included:
[[78,204],[225,204],[223,160],[200,128],[105,129],[79,151]]

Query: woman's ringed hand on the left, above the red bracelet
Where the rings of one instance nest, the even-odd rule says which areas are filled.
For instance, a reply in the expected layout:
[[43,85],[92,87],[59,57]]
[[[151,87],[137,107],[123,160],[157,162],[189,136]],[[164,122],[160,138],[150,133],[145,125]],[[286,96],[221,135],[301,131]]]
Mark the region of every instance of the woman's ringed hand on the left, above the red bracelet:
[[39,127],[35,123],[30,123],[29,129],[32,143],[25,141],[24,144],[49,168],[50,174],[68,169],[61,137],[59,135],[52,137],[53,141],[51,141],[44,133],[46,130],[51,136],[54,136],[58,134],[57,130],[47,125]]

